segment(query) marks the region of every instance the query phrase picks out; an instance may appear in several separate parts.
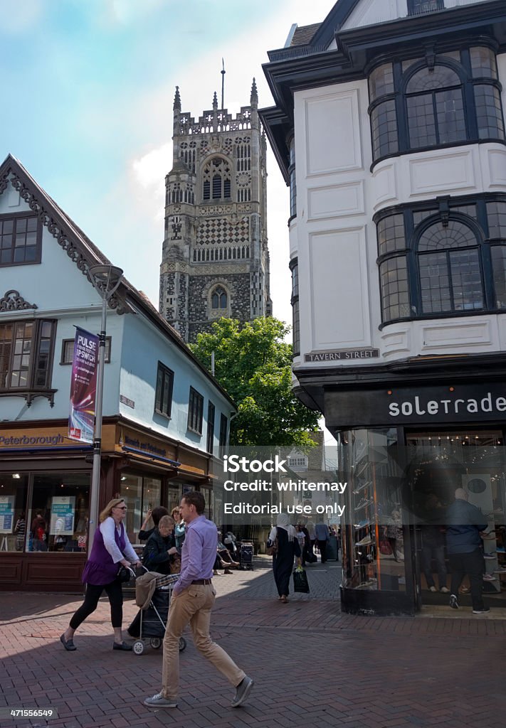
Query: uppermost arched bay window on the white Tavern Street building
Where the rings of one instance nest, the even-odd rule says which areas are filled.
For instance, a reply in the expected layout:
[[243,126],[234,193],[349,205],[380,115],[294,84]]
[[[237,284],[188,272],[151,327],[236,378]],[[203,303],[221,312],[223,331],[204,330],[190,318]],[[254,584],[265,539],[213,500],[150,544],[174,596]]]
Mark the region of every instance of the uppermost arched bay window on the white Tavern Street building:
[[505,141],[489,47],[384,63],[370,72],[369,96],[374,159],[462,141]]

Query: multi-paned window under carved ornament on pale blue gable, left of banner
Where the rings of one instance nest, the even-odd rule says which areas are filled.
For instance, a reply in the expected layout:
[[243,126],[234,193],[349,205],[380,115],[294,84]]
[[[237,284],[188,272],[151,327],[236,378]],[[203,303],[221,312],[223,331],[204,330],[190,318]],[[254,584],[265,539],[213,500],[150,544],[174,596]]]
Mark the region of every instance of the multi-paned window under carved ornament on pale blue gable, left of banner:
[[56,323],[0,324],[0,391],[49,389]]

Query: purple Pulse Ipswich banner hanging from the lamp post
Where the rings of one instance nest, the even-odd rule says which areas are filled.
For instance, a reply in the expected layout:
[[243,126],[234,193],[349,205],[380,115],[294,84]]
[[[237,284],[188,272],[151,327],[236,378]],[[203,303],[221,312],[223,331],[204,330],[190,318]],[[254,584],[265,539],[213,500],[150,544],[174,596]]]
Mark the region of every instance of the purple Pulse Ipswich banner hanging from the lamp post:
[[93,443],[98,336],[76,329],[70,384],[69,438]]

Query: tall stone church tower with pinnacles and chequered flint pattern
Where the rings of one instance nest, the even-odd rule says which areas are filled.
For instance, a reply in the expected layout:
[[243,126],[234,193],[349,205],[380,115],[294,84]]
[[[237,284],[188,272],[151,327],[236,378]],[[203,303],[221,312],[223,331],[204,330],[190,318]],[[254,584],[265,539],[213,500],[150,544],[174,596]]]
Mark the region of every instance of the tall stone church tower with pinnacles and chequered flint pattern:
[[250,106],[233,119],[213,107],[195,119],[174,97],[174,161],[166,176],[160,314],[195,341],[226,316],[272,314],[265,135],[253,79]]

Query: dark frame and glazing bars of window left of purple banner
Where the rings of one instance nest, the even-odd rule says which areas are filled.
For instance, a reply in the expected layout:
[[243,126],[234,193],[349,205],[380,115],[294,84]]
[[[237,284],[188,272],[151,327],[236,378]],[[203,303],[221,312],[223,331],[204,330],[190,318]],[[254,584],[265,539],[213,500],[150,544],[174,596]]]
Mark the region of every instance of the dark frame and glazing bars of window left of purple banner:
[[[32,326],[31,336],[29,338],[23,336],[23,339],[20,339],[19,336],[15,338],[17,327],[26,327],[27,325]],[[55,319],[21,319],[14,321],[2,321],[0,323],[0,332],[7,330],[8,327],[12,328],[12,338],[10,339],[11,343],[9,353],[7,355],[9,357],[9,361],[7,363],[7,368],[4,369],[4,365],[2,365],[2,371],[0,371],[0,395],[29,395],[31,392],[54,392],[54,390],[51,389],[51,381],[52,365],[55,355],[56,325],[57,321]],[[50,327],[50,336],[43,336],[44,328],[47,328],[47,326]],[[5,341],[7,341],[7,339],[0,337],[0,362],[5,356],[1,355],[1,350],[4,347],[7,349],[8,346],[8,344],[4,344],[4,347],[2,347],[2,342]],[[24,346],[22,354],[17,352],[16,347],[13,344],[15,341],[29,341],[30,351],[28,354],[26,353]],[[44,341],[48,342],[47,347],[43,347]],[[46,348],[46,351],[43,351],[44,348]],[[21,361],[19,366],[21,368],[14,368],[15,358],[20,356]],[[27,356],[28,367],[23,366],[23,358]],[[41,368],[40,366],[42,360],[45,362],[44,368]],[[36,381],[41,371],[44,373],[43,384],[37,383]],[[26,383],[21,384],[20,386],[12,386],[12,377],[15,372],[26,372]],[[4,384],[3,381],[4,376],[6,384]],[[31,402],[31,397],[28,397],[28,401]]]

